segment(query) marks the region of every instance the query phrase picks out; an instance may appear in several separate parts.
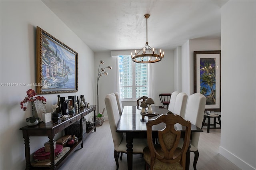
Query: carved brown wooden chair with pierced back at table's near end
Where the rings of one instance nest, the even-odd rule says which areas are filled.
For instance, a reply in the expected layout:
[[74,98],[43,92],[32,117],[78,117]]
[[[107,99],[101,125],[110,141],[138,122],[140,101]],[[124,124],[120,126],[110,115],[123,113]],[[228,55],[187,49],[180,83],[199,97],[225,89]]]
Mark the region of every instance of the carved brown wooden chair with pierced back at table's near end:
[[[165,123],[163,130],[158,130],[160,144],[152,142],[152,126]],[[179,123],[186,127],[184,143],[178,147],[181,132],[174,128]],[[180,115],[160,115],[156,119],[150,119],[147,123],[148,146],[144,148],[145,169],[148,170],[184,170],[186,166],[186,152],[190,142],[191,123]]]

